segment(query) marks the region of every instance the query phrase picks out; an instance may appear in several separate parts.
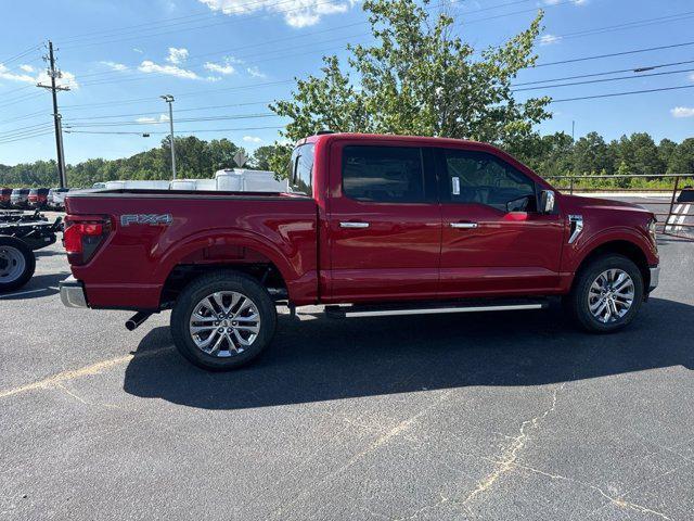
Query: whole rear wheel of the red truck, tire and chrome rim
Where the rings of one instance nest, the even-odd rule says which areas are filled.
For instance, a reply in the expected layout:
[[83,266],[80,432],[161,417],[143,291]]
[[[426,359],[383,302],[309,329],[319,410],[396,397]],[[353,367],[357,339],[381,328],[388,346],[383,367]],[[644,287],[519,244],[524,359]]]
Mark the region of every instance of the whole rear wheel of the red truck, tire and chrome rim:
[[256,358],[270,343],[277,310],[267,290],[235,271],[191,282],[171,313],[178,351],[203,369],[226,371]]

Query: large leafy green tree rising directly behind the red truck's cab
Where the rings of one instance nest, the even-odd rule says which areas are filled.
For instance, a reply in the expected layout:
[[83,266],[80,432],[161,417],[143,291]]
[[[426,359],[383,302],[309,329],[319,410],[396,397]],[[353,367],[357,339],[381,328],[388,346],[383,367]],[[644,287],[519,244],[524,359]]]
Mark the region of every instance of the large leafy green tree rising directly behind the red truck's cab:
[[327,128],[517,149],[550,117],[549,98],[519,103],[511,88],[518,71],[537,59],[541,11],[527,30],[475,56],[470,43],[452,35],[453,18],[430,20],[414,0],[365,0],[363,9],[376,43],[348,46],[346,66],[335,55],[323,58],[321,75],[297,79],[292,99],[270,105],[291,119],[283,132],[291,141]]

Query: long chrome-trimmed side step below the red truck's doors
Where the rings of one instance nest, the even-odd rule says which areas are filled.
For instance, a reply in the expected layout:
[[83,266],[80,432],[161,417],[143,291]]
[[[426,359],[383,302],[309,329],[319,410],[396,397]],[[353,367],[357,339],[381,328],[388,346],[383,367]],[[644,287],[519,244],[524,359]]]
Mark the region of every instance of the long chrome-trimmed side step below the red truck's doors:
[[398,315],[444,315],[449,313],[480,312],[519,312],[527,309],[544,309],[549,300],[525,301],[464,301],[449,303],[412,303],[410,306],[399,305],[347,305],[325,306],[325,315],[330,318],[391,317]]

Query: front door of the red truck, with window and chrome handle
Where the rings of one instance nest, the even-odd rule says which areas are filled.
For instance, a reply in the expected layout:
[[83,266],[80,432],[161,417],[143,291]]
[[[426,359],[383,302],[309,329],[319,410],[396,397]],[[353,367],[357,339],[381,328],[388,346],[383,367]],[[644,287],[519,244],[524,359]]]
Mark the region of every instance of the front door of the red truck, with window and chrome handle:
[[538,183],[489,151],[439,149],[441,296],[551,293],[563,225],[537,211]]

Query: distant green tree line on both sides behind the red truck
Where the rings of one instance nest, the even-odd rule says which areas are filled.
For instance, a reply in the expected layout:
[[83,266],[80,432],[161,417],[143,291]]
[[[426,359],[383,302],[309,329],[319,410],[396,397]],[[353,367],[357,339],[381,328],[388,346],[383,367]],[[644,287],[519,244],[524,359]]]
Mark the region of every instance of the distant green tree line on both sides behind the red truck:
[[[589,175],[619,176],[659,174],[694,174],[694,138],[680,143],[663,139],[656,143],[647,132],[622,136],[605,141],[597,132],[590,132],[576,141],[565,132],[547,136],[531,135],[511,147],[503,147],[540,176],[552,179],[557,176]],[[176,138],[178,177],[183,179],[211,178],[215,171],[233,168],[233,156],[245,150],[228,139],[204,141],[194,136]],[[282,147],[258,148],[250,156],[247,168],[269,170],[277,156],[284,157]],[[118,179],[170,179],[169,140],[160,147],[130,157],[118,160],[93,158],[67,165],[70,187],[86,188],[94,182]],[[286,168],[282,169],[286,174]],[[590,181],[590,180],[589,180]],[[0,164],[0,185],[10,187],[53,187],[57,185],[55,161],[37,161],[15,166]],[[584,183],[586,185],[586,183]],[[590,183],[588,183],[590,185]],[[595,186],[638,187],[648,186],[644,180],[615,178],[595,179]],[[651,182],[650,186],[665,183]]]

